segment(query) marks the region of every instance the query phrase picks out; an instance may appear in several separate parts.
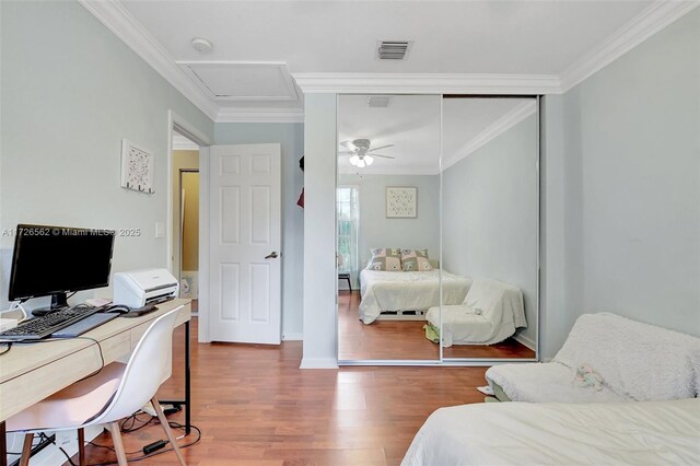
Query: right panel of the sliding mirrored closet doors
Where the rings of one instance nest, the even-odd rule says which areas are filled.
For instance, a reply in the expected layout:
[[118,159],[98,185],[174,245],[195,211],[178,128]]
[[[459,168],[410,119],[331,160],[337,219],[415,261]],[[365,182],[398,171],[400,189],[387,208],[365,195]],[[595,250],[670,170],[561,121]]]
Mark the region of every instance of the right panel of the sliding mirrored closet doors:
[[443,360],[534,359],[538,328],[537,98],[443,100],[442,261],[466,277],[442,306]]

